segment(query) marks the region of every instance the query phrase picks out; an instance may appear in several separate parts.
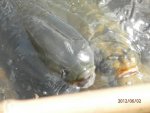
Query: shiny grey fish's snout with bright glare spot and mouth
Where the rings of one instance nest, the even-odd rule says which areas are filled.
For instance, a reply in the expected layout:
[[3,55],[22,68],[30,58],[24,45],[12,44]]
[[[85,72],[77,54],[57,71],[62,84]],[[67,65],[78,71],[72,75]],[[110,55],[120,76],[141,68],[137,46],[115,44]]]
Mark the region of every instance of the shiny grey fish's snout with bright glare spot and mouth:
[[94,54],[89,46],[80,48],[76,54],[76,63],[65,75],[67,82],[80,88],[88,88],[95,81]]

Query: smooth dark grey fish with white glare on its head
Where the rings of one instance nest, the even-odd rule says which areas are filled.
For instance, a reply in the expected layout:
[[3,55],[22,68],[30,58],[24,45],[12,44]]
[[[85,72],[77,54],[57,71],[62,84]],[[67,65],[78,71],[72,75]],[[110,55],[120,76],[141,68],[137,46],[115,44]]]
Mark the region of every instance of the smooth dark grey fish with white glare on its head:
[[25,29],[41,59],[67,83],[88,88],[95,80],[94,54],[72,26],[32,0],[16,0]]

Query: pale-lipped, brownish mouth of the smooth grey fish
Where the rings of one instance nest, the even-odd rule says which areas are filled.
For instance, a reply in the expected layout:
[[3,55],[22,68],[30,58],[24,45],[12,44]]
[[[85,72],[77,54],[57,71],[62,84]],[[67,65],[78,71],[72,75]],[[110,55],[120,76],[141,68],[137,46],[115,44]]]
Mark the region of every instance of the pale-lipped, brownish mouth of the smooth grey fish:
[[84,76],[84,78],[76,80],[73,85],[76,85],[80,88],[88,88],[90,86],[92,86],[94,84],[95,81],[95,68],[87,70],[85,72],[82,73],[82,76]]

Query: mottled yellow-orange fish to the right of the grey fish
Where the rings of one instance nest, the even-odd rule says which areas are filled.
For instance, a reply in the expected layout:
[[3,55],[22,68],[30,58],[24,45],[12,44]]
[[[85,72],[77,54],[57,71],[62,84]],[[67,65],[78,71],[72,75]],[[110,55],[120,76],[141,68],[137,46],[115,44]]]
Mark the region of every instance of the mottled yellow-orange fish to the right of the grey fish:
[[[121,30],[118,21],[109,18],[93,0],[36,0],[49,12],[72,25],[89,41],[94,51],[96,71],[108,77],[110,86],[149,82],[141,68],[140,55]],[[148,77],[149,78],[149,77]]]

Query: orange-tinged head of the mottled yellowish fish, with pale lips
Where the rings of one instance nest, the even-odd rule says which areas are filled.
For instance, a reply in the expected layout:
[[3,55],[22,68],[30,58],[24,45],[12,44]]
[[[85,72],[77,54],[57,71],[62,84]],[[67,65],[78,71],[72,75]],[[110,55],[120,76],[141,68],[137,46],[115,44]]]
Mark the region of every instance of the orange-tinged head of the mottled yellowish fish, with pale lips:
[[144,74],[139,71],[140,57],[133,51],[128,50],[113,61],[113,68],[118,85],[134,85],[143,83]]

